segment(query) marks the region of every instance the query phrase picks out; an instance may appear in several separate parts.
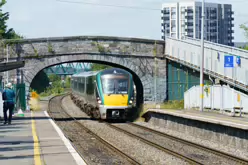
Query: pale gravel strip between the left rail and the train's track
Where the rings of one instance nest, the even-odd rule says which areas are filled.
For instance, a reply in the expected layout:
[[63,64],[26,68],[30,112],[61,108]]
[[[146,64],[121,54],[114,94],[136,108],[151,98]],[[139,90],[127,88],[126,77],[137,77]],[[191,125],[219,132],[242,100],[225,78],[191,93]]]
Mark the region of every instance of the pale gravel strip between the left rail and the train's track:
[[[65,110],[73,117],[89,118],[76,105],[73,104],[69,96],[62,101]],[[94,131],[104,140],[118,147],[124,153],[135,158],[138,162],[144,165],[151,164],[188,164],[187,162],[166,154],[154,147],[151,147],[139,140],[133,139],[124,133],[118,132],[104,123],[99,123],[93,120],[80,120],[87,128]]]

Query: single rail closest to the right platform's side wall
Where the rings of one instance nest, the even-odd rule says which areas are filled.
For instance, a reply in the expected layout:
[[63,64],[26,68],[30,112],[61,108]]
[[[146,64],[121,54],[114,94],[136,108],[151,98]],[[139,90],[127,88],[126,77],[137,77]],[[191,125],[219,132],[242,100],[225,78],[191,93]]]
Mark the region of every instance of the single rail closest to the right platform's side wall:
[[206,151],[206,152],[209,152],[209,153],[218,155],[220,157],[226,158],[227,160],[231,160],[231,161],[237,162],[238,164],[248,165],[248,160],[246,160],[246,159],[243,159],[243,158],[240,158],[240,157],[236,157],[234,155],[231,155],[231,154],[228,154],[228,153],[225,153],[225,152],[221,152],[221,151],[218,151],[218,150],[215,150],[215,149],[206,147],[206,146],[202,146],[202,145],[199,145],[199,144],[196,144],[196,143],[187,141],[187,140],[183,140],[183,139],[180,139],[178,137],[171,136],[169,134],[166,134],[166,133],[163,133],[163,132],[160,132],[160,131],[156,131],[156,130],[153,130],[151,128],[144,127],[144,126],[141,126],[141,125],[138,125],[138,124],[135,124],[135,123],[129,123],[129,125],[134,126],[134,127],[137,127],[137,128],[140,128],[140,129],[143,129],[143,130],[146,130],[148,132],[155,133],[157,135],[160,135],[160,136],[169,138],[171,140],[174,140],[174,141],[183,143],[185,145],[192,146],[192,147],[198,148],[200,150],[203,150],[203,151]]

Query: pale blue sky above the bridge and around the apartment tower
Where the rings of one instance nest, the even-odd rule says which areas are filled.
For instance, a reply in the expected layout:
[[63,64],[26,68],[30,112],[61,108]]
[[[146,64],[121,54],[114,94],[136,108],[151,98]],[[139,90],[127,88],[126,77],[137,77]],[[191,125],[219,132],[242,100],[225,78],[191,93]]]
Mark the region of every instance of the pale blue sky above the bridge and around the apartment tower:
[[[3,11],[10,13],[8,27],[14,28],[25,38],[98,35],[161,39],[162,3],[176,2],[176,0],[66,1],[137,6],[158,10],[94,6],[57,0],[7,0]],[[216,0],[205,0],[205,2],[216,2]],[[234,41],[247,41],[239,25],[248,22],[246,9],[248,0],[218,0],[218,3],[232,4]]]

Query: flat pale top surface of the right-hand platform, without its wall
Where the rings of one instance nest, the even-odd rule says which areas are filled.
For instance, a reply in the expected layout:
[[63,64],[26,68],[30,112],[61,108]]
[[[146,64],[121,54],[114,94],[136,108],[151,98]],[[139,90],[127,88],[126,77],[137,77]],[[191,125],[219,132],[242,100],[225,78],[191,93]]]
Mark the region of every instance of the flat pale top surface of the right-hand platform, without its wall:
[[199,110],[148,109],[147,112],[168,114],[248,130],[248,117],[245,115],[240,117],[236,114],[232,117],[230,113],[222,113],[216,110],[204,110],[201,112]]

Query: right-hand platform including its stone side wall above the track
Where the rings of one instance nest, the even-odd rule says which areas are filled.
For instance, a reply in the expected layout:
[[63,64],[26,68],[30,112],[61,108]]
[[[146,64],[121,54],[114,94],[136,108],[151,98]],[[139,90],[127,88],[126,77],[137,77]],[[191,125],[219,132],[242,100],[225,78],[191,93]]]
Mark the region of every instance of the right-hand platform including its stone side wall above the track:
[[149,109],[143,117],[154,126],[188,137],[187,140],[194,142],[197,139],[203,145],[213,144],[217,146],[215,149],[225,146],[248,159],[247,117],[231,117],[208,110],[162,109]]

